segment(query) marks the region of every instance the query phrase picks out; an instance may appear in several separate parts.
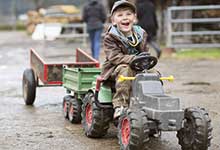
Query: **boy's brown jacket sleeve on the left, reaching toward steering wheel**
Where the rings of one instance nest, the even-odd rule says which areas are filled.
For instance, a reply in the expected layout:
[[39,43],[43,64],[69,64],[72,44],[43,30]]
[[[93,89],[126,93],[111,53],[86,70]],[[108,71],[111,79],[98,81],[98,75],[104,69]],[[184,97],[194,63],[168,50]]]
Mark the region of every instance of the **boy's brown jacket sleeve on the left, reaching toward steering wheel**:
[[126,54],[124,46],[110,34],[107,34],[104,38],[104,48],[106,59],[112,65],[129,64],[135,57]]

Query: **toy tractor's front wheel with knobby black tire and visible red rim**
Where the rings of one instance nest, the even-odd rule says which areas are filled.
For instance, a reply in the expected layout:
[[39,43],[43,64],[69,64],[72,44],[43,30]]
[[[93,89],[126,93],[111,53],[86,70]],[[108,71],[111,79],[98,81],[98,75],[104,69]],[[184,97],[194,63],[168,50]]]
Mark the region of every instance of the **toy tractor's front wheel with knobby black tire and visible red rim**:
[[121,150],[148,150],[149,128],[143,112],[128,109],[118,124],[118,139]]

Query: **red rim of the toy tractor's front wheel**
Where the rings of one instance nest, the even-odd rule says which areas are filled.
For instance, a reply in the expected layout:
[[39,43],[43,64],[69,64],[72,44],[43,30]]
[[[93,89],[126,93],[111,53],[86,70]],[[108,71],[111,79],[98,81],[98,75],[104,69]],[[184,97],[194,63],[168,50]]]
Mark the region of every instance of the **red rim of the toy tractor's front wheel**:
[[122,138],[122,144],[124,146],[127,146],[130,140],[130,122],[127,118],[124,118],[122,120],[121,124],[121,138]]

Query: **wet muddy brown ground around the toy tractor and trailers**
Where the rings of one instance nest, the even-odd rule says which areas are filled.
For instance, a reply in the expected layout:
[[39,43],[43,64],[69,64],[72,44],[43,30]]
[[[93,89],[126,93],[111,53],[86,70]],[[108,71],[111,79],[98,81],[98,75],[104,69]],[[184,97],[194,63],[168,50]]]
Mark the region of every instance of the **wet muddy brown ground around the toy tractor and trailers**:
[[[45,53],[75,53],[74,42],[43,43],[32,41],[23,32],[0,32],[0,150],[118,150],[117,129],[107,136],[89,139],[80,124],[64,119],[62,87],[37,89],[34,106],[25,106],[22,98],[22,73],[29,65],[29,48]],[[72,57],[72,56],[70,56]],[[101,58],[103,60],[103,57]],[[220,60],[176,60],[162,58],[158,70],[174,75],[173,83],[164,83],[167,94],[181,98],[182,107],[205,107],[213,126],[210,150],[220,149]],[[162,133],[149,142],[152,150],[180,150],[175,132]]]

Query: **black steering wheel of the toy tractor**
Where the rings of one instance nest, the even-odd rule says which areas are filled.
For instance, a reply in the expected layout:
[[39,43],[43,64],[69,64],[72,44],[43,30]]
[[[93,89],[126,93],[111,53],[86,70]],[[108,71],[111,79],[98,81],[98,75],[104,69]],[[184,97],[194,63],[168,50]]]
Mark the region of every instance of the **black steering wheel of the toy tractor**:
[[131,61],[130,67],[136,71],[151,69],[157,64],[157,58],[150,55],[142,55]]

